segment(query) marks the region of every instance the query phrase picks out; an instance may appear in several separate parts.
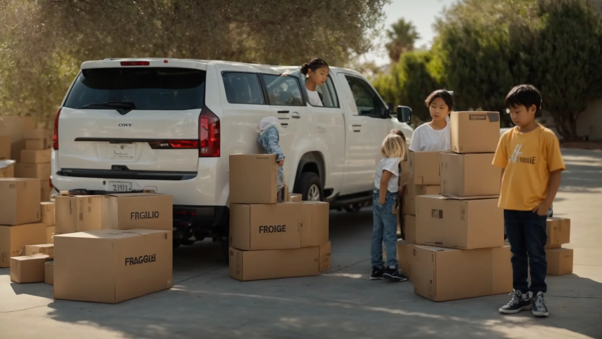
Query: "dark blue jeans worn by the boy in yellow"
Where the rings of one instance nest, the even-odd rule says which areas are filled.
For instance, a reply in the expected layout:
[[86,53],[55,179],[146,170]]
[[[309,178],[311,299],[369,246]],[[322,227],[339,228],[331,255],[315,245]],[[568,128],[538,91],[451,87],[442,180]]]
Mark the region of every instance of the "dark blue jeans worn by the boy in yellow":
[[[532,291],[546,293],[545,274],[548,265],[545,261],[547,241],[545,220],[532,211],[512,211],[504,209],[504,227],[510,252],[512,252],[512,285],[523,294]],[[527,265],[527,258],[529,259]],[[531,286],[527,284],[527,270],[531,268]]]

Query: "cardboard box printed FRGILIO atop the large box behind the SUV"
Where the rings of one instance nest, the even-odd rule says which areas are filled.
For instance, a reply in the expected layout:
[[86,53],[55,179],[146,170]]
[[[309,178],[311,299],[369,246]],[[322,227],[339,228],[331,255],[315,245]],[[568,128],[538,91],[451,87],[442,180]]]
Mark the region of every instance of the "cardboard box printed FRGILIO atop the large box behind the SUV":
[[103,195],[102,228],[171,231],[173,230],[173,195],[159,193]]

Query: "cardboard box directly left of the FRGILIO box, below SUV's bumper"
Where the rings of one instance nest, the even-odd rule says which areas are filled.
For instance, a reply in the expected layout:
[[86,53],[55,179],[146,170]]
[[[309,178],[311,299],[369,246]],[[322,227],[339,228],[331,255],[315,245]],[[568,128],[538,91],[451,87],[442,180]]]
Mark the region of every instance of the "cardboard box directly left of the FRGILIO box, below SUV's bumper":
[[75,233],[102,228],[102,195],[57,195],[55,230]]

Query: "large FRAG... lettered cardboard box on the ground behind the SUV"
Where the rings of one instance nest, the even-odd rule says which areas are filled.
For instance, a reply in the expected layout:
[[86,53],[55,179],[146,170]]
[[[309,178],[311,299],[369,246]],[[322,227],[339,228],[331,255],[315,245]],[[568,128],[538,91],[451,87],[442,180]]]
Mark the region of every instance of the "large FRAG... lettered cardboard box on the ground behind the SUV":
[[54,299],[117,303],[173,285],[171,230],[94,230],[54,242]]

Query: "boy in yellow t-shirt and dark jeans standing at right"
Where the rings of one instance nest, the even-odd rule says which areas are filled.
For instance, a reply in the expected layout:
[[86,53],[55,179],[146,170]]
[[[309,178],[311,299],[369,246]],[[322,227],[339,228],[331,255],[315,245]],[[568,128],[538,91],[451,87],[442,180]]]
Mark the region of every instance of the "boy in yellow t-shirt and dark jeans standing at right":
[[[504,209],[504,227],[512,252],[514,293],[500,312],[532,309],[533,315],[547,317],[545,221],[565,165],[554,132],[535,122],[541,109],[541,93],[535,86],[514,87],[506,96],[506,107],[516,126],[501,136],[493,165],[503,168],[498,206]],[[529,266],[531,286],[527,285]]]

